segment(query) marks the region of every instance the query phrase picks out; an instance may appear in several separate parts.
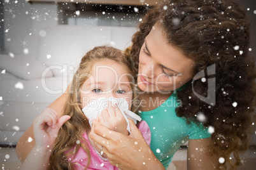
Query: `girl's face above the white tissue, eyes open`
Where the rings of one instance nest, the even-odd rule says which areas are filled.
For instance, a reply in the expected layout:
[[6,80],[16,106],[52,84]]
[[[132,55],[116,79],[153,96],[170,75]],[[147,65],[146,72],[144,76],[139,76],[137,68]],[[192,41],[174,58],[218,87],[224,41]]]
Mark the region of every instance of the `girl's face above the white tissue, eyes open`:
[[124,65],[113,60],[101,60],[92,65],[90,74],[87,76],[88,79],[80,88],[82,108],[92,100],[112,96],[124,98],[131,110],[132,88]]

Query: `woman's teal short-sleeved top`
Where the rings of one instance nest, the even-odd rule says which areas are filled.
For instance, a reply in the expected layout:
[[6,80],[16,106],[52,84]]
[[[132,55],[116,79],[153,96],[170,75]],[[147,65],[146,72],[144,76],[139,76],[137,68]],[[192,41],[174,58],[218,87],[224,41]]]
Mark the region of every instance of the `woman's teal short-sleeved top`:
[[188,139],[210,138],[211,134],[203,124],[190,125],[185,118],[178,117],[175,108],[180,106],[176,91],[159,107],[148,112],[139,112],[151,131],[150,148],[167,169],[174,153]]

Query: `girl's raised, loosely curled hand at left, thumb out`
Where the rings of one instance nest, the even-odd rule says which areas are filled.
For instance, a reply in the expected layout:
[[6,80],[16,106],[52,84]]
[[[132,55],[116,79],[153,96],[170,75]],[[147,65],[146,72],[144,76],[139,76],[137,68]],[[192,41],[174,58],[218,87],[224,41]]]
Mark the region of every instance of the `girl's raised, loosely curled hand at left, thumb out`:
[[40,150],[51,150],[59,129],[68,119],[69,115],[59,118],[55,110],[46,108],[33,122],[35,147]]

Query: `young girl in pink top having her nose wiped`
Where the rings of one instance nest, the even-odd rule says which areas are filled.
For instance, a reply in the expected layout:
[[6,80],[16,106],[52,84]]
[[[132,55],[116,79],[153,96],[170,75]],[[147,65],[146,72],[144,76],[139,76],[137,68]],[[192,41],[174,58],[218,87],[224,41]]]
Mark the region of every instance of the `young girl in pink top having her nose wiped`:
[[[96,47],[83,56],[71,82],[62,117],[58,118],[57,113],[48,108],[33,122],[36,145],[22,169],[117,169],[106,159],[103,147],[97,149],[90,140],[89,120],[85,116],[89,109],[83,113],[82,108],[90,107],[92,101],[95,108],[100,107],[105,97],[123,101],[129,110],[135,111],[138,106],[132,105],[136,93],[130,68],[131,61],[122,51],[108,46]],[[108,107],[101,112],[97,122],[128,135],[129,122],[122,114],[124,110],[113,103],[108,101]],[[141,121],[138,128],[149,145],[148,125]]]

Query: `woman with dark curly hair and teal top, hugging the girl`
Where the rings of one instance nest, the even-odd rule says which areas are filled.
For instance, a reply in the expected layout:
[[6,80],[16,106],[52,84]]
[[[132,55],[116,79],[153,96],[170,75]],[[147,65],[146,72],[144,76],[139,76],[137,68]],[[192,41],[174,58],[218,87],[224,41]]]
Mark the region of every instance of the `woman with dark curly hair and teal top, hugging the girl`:
[[[188,169],[236,168],[248,148],[255,97],[249,27],[245,11],[232,0],[174,0],[148,11],[126,52],[136,61],[141,117],[152,131],[152,150],[132,122],[130,136],[124,136],[96,119],[89,136],[111,164],[165,169],[188,140]],[[65,98],[50,107],[61,114]],[[28,136],[31,128],[17,145],[22,159],[33,145],[20,145]]]

